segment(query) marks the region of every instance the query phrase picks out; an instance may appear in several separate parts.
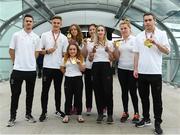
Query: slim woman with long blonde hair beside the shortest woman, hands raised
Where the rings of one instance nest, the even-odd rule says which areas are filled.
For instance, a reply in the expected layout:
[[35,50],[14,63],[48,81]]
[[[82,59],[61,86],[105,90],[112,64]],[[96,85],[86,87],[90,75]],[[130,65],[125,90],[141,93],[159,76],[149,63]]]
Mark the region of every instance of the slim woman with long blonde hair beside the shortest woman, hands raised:
[[92,75],[93,88],[96,98],[98,111],[97,123],[103,120],[104,105],[107,107],[107,123],[113,123],[113,88],[112,88],[112,69],[113,45],[106,38],[106,29],[99,25],[96,31],[96,40],[91,47],[89,60],[93,61]]

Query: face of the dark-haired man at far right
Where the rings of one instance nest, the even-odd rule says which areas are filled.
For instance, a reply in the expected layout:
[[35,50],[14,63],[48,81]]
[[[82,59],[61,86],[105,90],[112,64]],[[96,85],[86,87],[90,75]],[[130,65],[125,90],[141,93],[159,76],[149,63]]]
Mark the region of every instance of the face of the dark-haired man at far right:
[[144,16],[144,27],[146,31],[154,31],[155,19],[152,15]]

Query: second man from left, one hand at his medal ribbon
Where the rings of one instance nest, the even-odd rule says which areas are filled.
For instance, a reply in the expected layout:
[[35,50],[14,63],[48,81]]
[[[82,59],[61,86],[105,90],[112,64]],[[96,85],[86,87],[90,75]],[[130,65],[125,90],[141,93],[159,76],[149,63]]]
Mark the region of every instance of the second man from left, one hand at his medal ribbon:
[[54,16],[51,22],[52,30],[43,33],[41,36],[41,48],[43,48],[41,53],[44,54],[44,61],[41,93],[42,113],[39,117],[40,122],[43,122],[47,118],[48,93],[52,80],[54,81],[55,89],[55,114],[59,117],[65,116],[60,109],[61,83],[63,79],[63,73],[60,71],[60,65],[62,57],[68,46],[68,39],[60,31],[62,18],[60,16]]

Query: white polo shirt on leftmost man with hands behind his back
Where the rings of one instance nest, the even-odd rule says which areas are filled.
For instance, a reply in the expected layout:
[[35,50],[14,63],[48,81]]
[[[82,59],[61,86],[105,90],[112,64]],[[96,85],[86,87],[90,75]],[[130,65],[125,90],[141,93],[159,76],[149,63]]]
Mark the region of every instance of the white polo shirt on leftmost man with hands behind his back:
[[10,49],[15,50],[14,70],[36,71],[35,51],[40,51],[39,36],[23,30],[13,34]]

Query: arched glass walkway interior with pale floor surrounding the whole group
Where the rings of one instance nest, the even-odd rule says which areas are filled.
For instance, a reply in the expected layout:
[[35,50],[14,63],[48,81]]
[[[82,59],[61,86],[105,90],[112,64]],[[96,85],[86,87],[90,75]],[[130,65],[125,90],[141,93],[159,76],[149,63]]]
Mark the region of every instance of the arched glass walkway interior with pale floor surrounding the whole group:
[[[151,129],[136,129],[130,122],[125,124],[119,122],[122,103],[116,74],[113,82],[115,89],[113,94],[114,98],[117,99],[117,102],[114,103],[114,125],[95,123],[95,103],[93,103],[93,115],[85,117],[84,125],[77,124],[75,121],[64,125],[60,119],[52,115],[54,90],[50,91],[49,102],[52,105],[49,103],[49,122],[36,123],[35,126],[26,124],[23,120],[25,92],[22,90],[18,124],[11,129],[5,126],[9,119],[10,107],[8,80],[13,66],[9,56],[9,43],[12,34],[23,28],[23,15],[31,14],[34,17],[33,30],[39,36],[51,29],[50,18],[59,15],[63,20],[61,32],[65,35],[67,35],[68,27],[71,24],[78,24],[86,37],[88,26],[95,23],[106,26],[108,39],[116,40],[121,37],[119,22],[123,18],[130,19],[133,35],[143,31],[143,14],[145,12],[155,14],[157,27],[166,31],[168,35],[171,52],[168,55],[163,55],[162,65],[163,126],[164,134],[180,134],[180,0],[0,0],[0,134],[151,134],[153,126]],[[41,113],[41,87],[41,79],[37,79],[33,106],[37,119]],[[64,97],[62,100],[64,101]],[[153,119],[153,112],[151,113]]]

